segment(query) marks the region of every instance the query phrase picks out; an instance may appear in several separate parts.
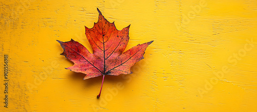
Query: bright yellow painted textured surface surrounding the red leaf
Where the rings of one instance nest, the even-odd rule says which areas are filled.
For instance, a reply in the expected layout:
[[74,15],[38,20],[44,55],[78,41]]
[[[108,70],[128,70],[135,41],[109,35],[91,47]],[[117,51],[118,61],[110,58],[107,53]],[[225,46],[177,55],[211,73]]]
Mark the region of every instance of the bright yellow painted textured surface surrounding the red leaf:
[[[129,49],[154,42],[131,75],[83,80],[56,41],[90,45],[97,7]],[[0,2],[0,111],[257,111],[257,2]],[[8,55],[8,108],[4,107]]]

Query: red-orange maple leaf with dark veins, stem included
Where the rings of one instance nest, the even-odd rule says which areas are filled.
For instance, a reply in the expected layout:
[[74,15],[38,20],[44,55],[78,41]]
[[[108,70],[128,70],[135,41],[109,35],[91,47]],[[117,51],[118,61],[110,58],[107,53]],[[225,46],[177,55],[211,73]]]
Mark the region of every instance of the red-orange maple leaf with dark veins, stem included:
[[[61,55],[74,62],[73,66],[65,69],[86,74],[84,80],[101,75],[104,80],[105,75],[131,74],[131,67],[143,59],[145,49],[153,41],[138,44],[123,53],[130,38],[128,37],[130,25],[119,31],[114,22],[109,23],[98,8],[97,10],[99,12],[98,22],[91,29],[85,26],[85,34],[93,49],[93,54],[73,39],[67,42],[57,40],[64,50]],[[97,98],[101,95],[103,80]]]

